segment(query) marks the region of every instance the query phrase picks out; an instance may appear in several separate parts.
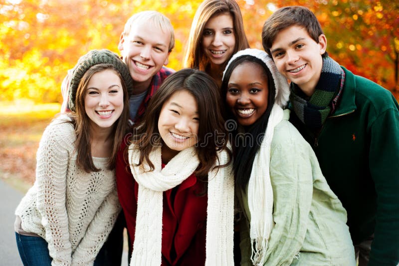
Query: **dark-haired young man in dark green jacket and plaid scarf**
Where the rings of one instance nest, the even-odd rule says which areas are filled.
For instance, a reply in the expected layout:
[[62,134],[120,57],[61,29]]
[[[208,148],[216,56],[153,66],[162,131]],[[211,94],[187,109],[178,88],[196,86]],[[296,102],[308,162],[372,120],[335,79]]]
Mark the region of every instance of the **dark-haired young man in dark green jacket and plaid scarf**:
[[306,7],[273,13],[262,43],[291,80],[291,123],[311,144],[348,213],[359,266],[399,263],[399,106],[391,92],[341,67]]

